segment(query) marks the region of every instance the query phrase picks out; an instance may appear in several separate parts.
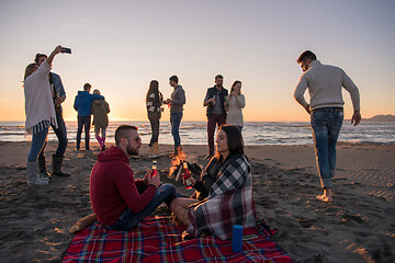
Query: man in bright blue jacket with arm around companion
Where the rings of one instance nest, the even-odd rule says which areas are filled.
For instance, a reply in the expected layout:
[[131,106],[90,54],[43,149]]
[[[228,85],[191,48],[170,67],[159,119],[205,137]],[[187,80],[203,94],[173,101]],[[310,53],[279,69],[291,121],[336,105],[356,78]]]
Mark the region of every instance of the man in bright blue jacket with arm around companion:
[[80,149],[80,142],[81,142],[81,134],[82,134],[82,127],[84,126],[84,133],[86,133],[86,149],[90,150],[89,148],[89,130],[90,130],[90,123],[91,123],[91,104],[92,101],[95,100],[104,100],[104,96],[91,94],[92,85],[89,83],[86,83],[83,85],[83,91],[78,91],[78,94],[76,95],[74,108],[78,112],[78,129],[77,129],[77,150]]

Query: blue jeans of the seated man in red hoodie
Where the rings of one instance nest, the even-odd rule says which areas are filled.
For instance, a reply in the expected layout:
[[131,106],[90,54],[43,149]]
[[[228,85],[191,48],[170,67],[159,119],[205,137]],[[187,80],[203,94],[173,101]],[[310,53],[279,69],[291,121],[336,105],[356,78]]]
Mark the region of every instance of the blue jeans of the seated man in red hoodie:
[[[145,188],[139,188],[138,192],[143,193]],[[109,230],[128,230],[149,216],[162,202],[169,206],[170,202],[176,197],[177,194],[174,185],[162,184],[157,188],[151,202],[149,202],[140,213],[134,213],[127,207],[114,225],[105,226],[105,228]]]

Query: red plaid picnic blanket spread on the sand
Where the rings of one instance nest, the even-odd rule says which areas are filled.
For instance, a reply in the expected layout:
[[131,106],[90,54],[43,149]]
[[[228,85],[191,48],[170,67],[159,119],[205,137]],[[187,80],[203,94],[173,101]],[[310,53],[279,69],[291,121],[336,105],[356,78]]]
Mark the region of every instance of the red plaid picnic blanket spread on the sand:
[[270,241],[264,224],[244,229],[250,239],[239,253],[232,251],[232,240],[214,236],[182,241],[183,230],[168,217],[147,217],[129,231],[94,222],[76,233],[63,262],[294,262]]

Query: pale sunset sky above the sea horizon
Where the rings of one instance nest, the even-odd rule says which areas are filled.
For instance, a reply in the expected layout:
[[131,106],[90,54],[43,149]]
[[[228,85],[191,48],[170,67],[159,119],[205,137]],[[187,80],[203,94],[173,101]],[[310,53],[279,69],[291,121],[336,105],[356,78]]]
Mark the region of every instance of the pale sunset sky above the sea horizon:
[[183,119],[205,121],[203,99],[218,73],[227,89],[242,82],[245,121],[308,121],[293,99],[306,49],[351,77],[363,117],[395,114],[394,25],[393,0],[0,0],[0,122],[25,119],[24,69],[56,45],[72,49],[53,64],[68,121],[86,82],[105,96],[110,119],[145,121],[150,80],[169,98],[172,75],[187,93]]

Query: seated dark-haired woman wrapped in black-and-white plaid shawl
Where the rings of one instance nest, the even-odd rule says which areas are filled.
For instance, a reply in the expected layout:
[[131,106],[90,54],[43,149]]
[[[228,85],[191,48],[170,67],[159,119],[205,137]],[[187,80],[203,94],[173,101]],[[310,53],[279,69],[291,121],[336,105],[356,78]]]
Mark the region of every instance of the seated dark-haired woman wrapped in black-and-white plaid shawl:
[[219,127],[217,153],[196,179],[196,198],[176,198],[170,205],[176,217],[188,229],[184,239],[213,233],[219,239],[232,237],[234,225],[256,226],[251,167],[244,155],[242,137],[233,125]]

